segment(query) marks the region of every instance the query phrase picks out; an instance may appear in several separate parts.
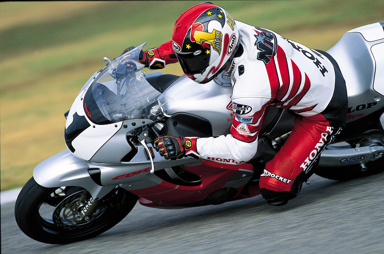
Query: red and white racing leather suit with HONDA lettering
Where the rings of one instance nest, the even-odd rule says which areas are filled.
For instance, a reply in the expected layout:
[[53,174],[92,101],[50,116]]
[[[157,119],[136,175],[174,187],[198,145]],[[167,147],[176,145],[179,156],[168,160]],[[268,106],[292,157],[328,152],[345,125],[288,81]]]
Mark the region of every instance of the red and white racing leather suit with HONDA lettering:
[[[297,115],[294,128],[265,165],[259,181],[267,202],[283,205],[300,192],[302,183],[313,174],[319,154],[345,125],[345,81],[328,53],[265,28],[235,23],[240,46],[223,74],[232,78],[231,134],[191,139],[193,145],[185,147],[186,156],[230,164],[247,162],[256,154],[257,135],[268,107],[288,109]],[[171,41],[146,54],[149,52],[156,52],[154,58],[161,59],[164,66],[177,61]],[[154,65],[151,58],[147,61],[148,66]]]

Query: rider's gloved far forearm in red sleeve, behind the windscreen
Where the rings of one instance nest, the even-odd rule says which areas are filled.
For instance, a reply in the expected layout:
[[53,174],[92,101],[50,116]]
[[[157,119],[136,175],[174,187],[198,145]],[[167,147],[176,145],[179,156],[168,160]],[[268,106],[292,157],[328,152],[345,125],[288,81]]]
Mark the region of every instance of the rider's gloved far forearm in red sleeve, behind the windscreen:
[[[122,54],[134,49],[129,47],[125,49]],[[159,48],[148,49],[141,51],[139,54],[139,61],[150,70],[158,70],[166,67],[166,64],[177,62],[177,57],[172,49],[172,41],[162,44]]]

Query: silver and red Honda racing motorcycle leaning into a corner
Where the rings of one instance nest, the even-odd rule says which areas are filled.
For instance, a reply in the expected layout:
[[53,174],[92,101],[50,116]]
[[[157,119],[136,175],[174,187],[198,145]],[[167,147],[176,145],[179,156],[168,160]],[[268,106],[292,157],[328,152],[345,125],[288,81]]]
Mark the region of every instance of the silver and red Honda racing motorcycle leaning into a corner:
[[[383,27],[384,21],[348,31],[328,50],[346,80],[349,111],[346,128],[321,154],[321,177],[347,180],[384,170]],[[92,238],[119,223],[137,201],[185,208],[260,194],[265,163],[295,116],[271,107],[257,154],[247,163],[165,160],[152,148],[157,137],[230,133],[232,87],[225,72],[204,85],[185,75],[146,74],[135,61],[144,44],[113,61],[104,57],[109,64],[65,113],[68,149],[38,164],[16,201],[17,224],[30,238],[50,244]]]

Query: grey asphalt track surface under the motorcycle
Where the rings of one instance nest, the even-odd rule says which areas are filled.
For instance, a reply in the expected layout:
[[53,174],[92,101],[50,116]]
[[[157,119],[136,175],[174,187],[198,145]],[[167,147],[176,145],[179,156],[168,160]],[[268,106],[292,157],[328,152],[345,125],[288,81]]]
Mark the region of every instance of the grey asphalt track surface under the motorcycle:
[[2,254],[384,253],[384,174],[345,182],[314,175],[300,195],[274,207],[257,196],[180,210],[138,203],[96,238],[66,245],[25,236],[1,205]]

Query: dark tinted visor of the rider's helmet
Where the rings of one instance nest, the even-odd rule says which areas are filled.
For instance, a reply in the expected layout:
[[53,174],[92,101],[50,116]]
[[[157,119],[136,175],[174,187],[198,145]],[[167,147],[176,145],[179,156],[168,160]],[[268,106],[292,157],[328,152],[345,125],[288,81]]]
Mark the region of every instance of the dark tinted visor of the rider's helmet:
[[175,54],[185,74],[200,74],[209,66],[210,54],[206,54],[204,51],[197,55],[194,53],[178,54],[177,52]]

